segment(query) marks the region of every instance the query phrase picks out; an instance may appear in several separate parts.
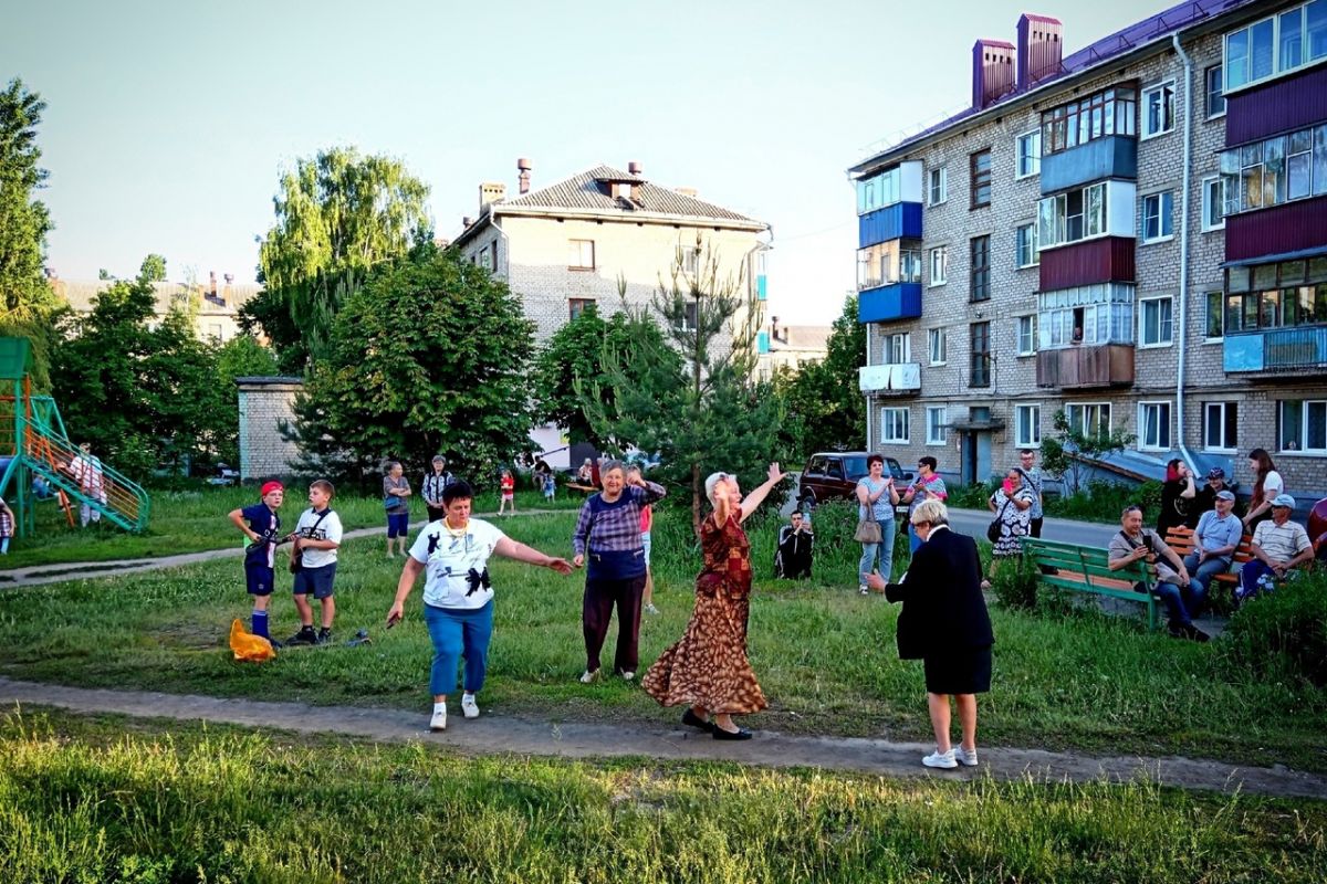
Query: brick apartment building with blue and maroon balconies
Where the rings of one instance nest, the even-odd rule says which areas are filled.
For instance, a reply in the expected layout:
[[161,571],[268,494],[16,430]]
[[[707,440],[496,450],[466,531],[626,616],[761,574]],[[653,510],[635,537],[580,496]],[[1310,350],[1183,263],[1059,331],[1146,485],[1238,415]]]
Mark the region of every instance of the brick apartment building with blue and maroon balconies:
[[985,480],[1074,425],[1111,460],[1327,490],[1327,0],[1198,0],[1063,56],[978,40],[971,106],[849,170],[868,444]]

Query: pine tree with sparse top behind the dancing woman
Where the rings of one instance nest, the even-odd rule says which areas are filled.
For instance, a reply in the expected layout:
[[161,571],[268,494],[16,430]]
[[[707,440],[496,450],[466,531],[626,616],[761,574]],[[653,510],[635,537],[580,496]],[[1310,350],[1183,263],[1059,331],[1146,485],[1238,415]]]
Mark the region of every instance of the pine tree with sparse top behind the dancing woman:
[[[698,248],[703,245],[697,244]],[[699,530],[705,478],[736,473],[744,488],[760,481],[779,449],[783,416],[770,384],[752,380],[760,302],[744,268],[725,274],[713,249],[702,249],[695,273],[681,252],[653,297],[662,317],[656,339],[646,310],[632,310],[622,347],[604,360],[604,383],[583,383],[581,403],[610,451],[634,445],[658,452],[658,478],[691,506]],[[666,353],[681,355],[681,364]]]

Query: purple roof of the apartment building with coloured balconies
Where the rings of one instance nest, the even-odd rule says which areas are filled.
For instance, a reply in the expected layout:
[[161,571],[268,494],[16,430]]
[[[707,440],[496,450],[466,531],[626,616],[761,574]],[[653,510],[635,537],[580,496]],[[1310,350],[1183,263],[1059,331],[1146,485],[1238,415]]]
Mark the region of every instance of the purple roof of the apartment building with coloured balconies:
[[1158,12],[1157,15],[1144,19],[1143,21],[1137,21],[1128,28],[1123,28],[1107,37],[1101,37],[1096,42],[1067,56],[1060,61],[1060,70],[1058,73],[1043,77],[1032,83],[1015,86],[1010,91],[991,101],[985,107],[965,107],[953,117],[949,117],[934,126],[924,129],[922,131],[876,152],[869,159],[849,168],[848,172],[849,175],[861,175],[864,172],[873,171],[876,167],[893,160],[897,155],[908,152],[909,148],[913,148],[922,142],[934,140],[936,137],[958,123],[989,113],[1003,113],[1011,102],[1040,91],[1047,86],[1060,83],[1062,81],[1071,80],[1079,74],[1104,66],[1107,61],[1154,44],[1158,40],[1166,40],[1169,45],[1169,37],[1172,33],[1178,33],[1189,28],[1206,24],[1218,16],[1223,16],[1229,12],[1258,3],[1266,4],[1266,0],[1189,0],[1188,3],[1170,7],[1169,9]]

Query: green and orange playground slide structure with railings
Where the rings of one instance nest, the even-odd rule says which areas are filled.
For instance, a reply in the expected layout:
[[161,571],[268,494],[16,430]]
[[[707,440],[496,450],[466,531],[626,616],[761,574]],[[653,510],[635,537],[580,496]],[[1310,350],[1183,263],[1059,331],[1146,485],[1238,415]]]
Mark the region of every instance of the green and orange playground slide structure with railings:
[[147,492],[84,456],[69,440],[56,400],[33,395],[31,368],[27,338],[0,338],[0,497],[15,513],[16,534],[36,527],[35,480],[58,501],[70,526],[77,502],[127,531],[147,527]]

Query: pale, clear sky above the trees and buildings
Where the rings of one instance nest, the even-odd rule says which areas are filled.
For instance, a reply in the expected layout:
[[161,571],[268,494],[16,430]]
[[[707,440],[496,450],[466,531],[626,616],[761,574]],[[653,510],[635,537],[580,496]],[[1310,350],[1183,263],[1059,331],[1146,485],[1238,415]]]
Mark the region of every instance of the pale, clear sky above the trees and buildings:
[[828,325],[856,280],[844,170],[962,109],[977,38],[1038,12],[1068,54],[1164,5],[0,0],[0,81],[48,103],[66,280],[157,252],[171,280],[252,282],[281,172],[332,146],[401,159],[449,239],[518,156],[536,188],[637,160],[771,224],[770,311]]

